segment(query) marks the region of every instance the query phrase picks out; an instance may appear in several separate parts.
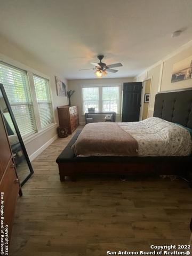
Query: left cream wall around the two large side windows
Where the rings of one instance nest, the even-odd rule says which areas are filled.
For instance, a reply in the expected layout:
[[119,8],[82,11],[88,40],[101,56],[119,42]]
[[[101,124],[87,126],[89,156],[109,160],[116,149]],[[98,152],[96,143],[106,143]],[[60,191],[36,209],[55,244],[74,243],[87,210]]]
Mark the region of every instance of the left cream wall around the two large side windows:
[[[7,41],[6,39],[0,37],[0,61],[4,61],[11,65],[20,67],[23,69],[30,69],[35,70],[37,75],[46,75],[50,79],[50,87],[53,99],[53,108],[54,108],[54,116],[55,122],[58,123],[58,115],[57,115],[57,106],[67,105],[67,97],[58,97],[57,91],[55,87],[55,75],[60,76],[57,74],[57,71],[53,70],[51,67],[47,67],[41,60],[33,57],[30,53],[21,50],[18,46],[15,46],[11,42]],[[67,81],[64,77],[61,77],[63,82],[66,83]],[[41,134],[38,134],[37,138],[26,140],[25,145],[30,156],[30,159],[33,159],[37,156],[38,153],[41,153],[46,146],[57,138],[57,126],[55,124],[51,129],[48,129]]]

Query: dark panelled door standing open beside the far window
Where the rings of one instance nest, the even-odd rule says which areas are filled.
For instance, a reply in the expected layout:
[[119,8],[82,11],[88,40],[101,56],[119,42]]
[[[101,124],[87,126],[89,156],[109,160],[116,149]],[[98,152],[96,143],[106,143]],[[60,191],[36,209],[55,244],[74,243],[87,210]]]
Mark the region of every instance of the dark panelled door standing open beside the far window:
[[123,84],[122,122],[139,121],[142,82]]

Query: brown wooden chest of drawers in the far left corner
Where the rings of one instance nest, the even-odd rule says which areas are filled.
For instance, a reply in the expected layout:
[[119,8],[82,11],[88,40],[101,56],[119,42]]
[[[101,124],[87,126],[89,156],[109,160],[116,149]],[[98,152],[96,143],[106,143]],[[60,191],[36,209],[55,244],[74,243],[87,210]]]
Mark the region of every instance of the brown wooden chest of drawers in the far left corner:
[[77,106],[60,106],[58,107],[59,126],[67,127],[68,133],[71,134],[79,125],[78,107]]

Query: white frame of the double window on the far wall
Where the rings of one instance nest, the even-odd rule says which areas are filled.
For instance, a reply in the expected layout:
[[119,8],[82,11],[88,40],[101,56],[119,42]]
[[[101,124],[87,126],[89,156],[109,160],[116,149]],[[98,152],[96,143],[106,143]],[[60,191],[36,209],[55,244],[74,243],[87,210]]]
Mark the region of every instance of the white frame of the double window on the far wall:
[[[118,112],[116,113],[116,115],[121,115],[121,93],[122,93],[122,84],[120,83],[116,83],[116,84],[83,84],[81,85],[81,102],[82,102],[82,116],[85,115],[84,113],[84,108],[83,108],[83,88],[84,87],[99,87],[99,112],[103,112],[102,109],[102,88],[103,87],[119,87],[119,106],[118,106]],[[104,112],[103,112],[104,113]],[[107,112],[106,112],[107,113]]]

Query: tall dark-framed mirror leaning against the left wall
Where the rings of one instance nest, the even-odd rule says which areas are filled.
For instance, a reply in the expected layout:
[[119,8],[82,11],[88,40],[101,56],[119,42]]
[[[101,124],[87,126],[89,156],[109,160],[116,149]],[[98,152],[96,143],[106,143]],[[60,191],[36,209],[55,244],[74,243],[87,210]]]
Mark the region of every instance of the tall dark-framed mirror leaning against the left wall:
[[[2,113],[7,135],[9,137],[13,158],[21,186],[34,173],[17,122],[14,118],[3,84],[0,84],[0,111]],[[3,150],[3,149],[2,149]]]

